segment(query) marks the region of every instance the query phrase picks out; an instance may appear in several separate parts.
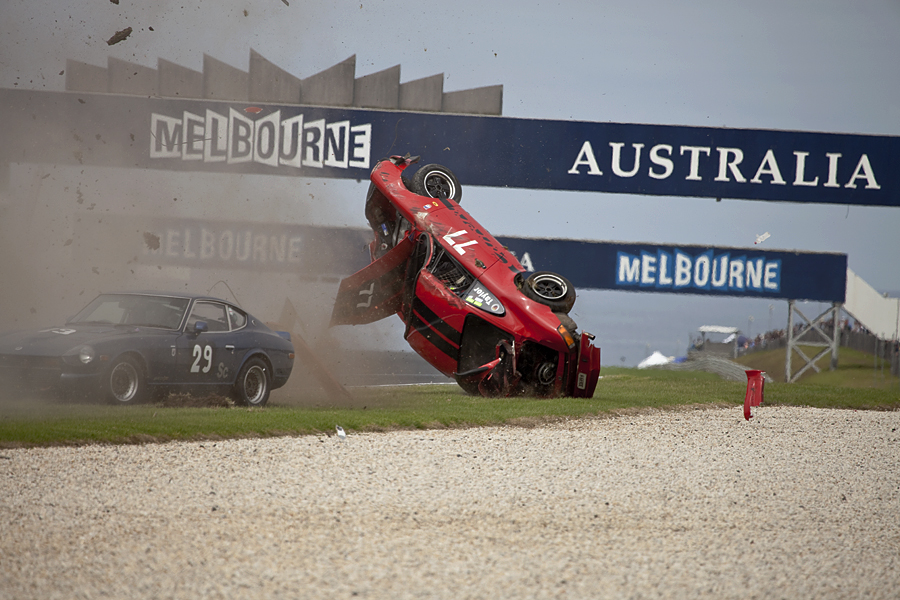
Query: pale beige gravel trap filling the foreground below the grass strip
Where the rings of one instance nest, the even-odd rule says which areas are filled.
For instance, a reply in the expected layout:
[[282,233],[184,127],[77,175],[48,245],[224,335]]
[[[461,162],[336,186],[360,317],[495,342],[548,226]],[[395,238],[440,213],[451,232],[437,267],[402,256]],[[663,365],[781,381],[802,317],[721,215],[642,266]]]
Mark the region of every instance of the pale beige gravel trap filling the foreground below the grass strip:
[[897,598],[900,412],[0,451],[0,598]]

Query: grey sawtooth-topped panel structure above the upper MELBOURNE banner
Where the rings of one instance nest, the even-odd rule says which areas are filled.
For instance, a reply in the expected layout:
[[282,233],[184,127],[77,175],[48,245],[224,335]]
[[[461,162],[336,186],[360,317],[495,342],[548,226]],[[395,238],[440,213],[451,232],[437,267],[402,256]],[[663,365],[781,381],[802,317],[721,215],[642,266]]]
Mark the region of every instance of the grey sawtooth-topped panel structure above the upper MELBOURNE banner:
[[400,65],[356,78],[356,55],[299,78],[250,50],[249,71],[203,55],[203,72],[159,59],[157,69],[109,58],[107,67],[66,60],[66,91],[208,98],[386,110],[503,113],[503,86],[444,92],[444,75],[400,83]]

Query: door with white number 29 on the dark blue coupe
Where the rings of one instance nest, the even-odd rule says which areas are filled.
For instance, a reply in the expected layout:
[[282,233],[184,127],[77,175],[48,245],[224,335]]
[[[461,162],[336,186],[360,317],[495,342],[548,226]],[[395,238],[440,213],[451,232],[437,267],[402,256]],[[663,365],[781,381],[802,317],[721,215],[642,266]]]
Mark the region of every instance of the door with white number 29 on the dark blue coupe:
[[[206,323],[205,330],[197,330],[198,322]],[[194,302],[176,343],[176,363],[182,383],[223,383],[223,374],[231,367],[233,360],[229,344],[230,329],[224,304],[212,300]]]

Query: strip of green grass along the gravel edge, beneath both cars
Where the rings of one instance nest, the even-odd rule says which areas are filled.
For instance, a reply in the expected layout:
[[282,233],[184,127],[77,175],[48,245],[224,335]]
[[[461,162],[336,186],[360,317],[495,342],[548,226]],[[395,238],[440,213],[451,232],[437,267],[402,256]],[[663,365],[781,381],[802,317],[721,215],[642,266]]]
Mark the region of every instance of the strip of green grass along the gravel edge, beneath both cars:
[[[783,354],[782,354],[783,358]],[[0,403],[0,448],[84,443],[143,443],[276,435],[512,424],[684,405],[743,404],[746,383],[709,373],[604,368],[591,399],[468,396],[456,386],[354,389],[352,402],[329,405],[319,392],[279,390],[264,409],[164,404],[118,407],[46,401]],[[829,384],[773,384],[766,404],[900,409],[900,390]]]

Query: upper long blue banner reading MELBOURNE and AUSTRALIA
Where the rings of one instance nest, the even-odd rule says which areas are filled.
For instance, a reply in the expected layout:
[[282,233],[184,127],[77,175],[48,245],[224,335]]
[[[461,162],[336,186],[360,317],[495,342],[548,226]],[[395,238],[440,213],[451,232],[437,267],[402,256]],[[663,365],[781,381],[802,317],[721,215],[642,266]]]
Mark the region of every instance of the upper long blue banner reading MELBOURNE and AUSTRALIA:
[[[900,137],[0,90],[6,160],[365,180],[390,154],[463,185],[900,206]],[[61,132],[67,132],[61,135]]]

